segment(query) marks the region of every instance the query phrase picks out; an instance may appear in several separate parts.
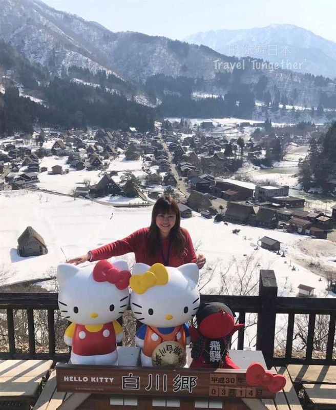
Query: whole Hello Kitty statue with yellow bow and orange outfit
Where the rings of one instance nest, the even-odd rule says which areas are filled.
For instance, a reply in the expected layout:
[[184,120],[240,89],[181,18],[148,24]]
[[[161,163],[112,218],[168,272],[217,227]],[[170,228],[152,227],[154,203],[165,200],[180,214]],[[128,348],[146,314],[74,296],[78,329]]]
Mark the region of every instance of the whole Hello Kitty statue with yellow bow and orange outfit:
[[167,364],[154,358],[155,352],[166,351],[163,347],[167,341],[171,342],[171,349],[175,346],[174,351],[183,351],[185,357],[185,347],[190,343],[185,322],[196,315],[200,303],[198,276],[196,263],[179,268],[164,267],[161,263],[151,267],[144,263],[134,265],[130,279],[131,309],[143,323],[135,337],[135,344],[142,349],[143,366]]

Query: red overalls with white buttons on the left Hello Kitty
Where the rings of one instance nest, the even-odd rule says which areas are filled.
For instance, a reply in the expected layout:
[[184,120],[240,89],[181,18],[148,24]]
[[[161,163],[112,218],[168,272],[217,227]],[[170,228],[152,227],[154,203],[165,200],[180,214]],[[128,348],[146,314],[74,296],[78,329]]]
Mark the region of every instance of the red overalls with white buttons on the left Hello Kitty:
[[76,324],[72,351],[76,355],[91,356],[92,346],[95,355],[106,355],[116,350],[116,335],[113,323],[105,323],[98,332],[91,332],[83,324]]

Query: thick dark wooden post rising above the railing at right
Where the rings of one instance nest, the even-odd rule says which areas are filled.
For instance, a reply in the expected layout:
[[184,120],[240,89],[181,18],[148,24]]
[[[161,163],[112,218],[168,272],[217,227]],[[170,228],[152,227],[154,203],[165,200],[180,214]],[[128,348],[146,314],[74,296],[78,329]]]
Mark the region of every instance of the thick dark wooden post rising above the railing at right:
[[278,285],[272,270],[260,270],[259,297],[261,311],[258,313],[257,350],[261,350],[267,367],[272,367],[274,355],[274,337],[276,328],[276,304]]

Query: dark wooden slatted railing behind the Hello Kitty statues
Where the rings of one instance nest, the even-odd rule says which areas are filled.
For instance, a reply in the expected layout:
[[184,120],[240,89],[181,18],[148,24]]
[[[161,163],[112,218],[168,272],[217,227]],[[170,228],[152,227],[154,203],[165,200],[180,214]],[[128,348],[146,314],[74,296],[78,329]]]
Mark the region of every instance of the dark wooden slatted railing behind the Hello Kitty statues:
[[[336,300],[322,298],[279,297],[277,281],[274,271],[261,270],[259,281],[259,296],[222,296],[202,295],[201,302],[220,301],[228,304],[239,314],[238,322],[245,323],[247,314],[256,313],[257,335],[256,348],[263,352],[267,365],[296,364],[336,364],[335,357],[335,322]],[[20,353],[15,346],[14,310],[27,311],[29,351]],[[52,358],[56,361],[66,361],[67,353],[57,353],[55,348],[54,311],[58,310],[56,293],[0,293],[0,310],[5,310],[7,316],[8,351],[0,351],[0,359],[5,358]],[[34,311],[46,310],[48,317],[47,353],[36,352]],[[287,332],[284,354],[275,355],[275,335],[277,314],[287,316]],[[295,338],[296,315],[307,315],[305,355],[293,356],[293,339]],[[314,332],[316,330],[317,315],[326,315],[328,318],[325,329],[326,351],[319,352],[319,358],[314,358]],[[238,331],[237,348],[244,348],[245,329]],[[46,347],[46,346],[45,346]],[[324,358],[320,356],[324,355]],[[297,356],[297,355],[295,355]]]

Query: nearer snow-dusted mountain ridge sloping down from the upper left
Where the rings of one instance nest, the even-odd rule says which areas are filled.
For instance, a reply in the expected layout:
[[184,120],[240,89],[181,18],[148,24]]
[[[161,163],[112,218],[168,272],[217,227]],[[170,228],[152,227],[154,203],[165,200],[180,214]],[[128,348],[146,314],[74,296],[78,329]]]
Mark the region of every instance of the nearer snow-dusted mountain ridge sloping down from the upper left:
[[[314,78],[296,71],[256,69],[247,59],[166,37],[136,32],[113,33],[97,23],[57,11],[39,0],[0,0],[0,8],[0,39],[10,43],[31,63],[38,63],[58,75],[74,65],[93,72],[115,73],[125,83],[136,87],[137,91],[133,93],[141,100],[146,98],[145,88],[153,105],[163,100],[166,91],[181,96],[188,83],[188,95],[233,93],[232,100],[246,101],[253,98],[253,95],[247,95],[248,92],[255,93],[255,97],[261,100],[265,92],[270,93],[271,100],[277,100],[280,93],[288,104],[302,107],[317,107],[324,95],[324,107],[334,108],[336,91],[332,81],[323,80],[322,84],[316,84]],[[264,41],[262,36],[260,39],[256,37],[256,43],[262,39]],[[242,37],[241,41],[246,42],[247,37]],[[329,54],[333,58],[331,51]],[[153,78],[157,75],[161,78]],[[83,77],[76,78],[88,81]],[[151,79],[152,87],[145,87]],[[260,97],[255,90],[258,83]],[[181,90],[183,87],[184,91]]]

